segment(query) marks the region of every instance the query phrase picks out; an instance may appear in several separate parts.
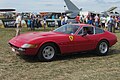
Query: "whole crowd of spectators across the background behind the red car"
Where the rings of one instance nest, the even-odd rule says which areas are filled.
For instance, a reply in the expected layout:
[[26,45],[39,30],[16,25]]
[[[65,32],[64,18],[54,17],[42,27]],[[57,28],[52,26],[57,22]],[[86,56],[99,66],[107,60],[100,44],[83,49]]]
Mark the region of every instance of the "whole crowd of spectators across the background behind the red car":
[[[27,20],[27,27],[30,28],[31,30],[35,30],[35,28],[39,27],[44,27],[46,29],[46,22],[47,17],[43,16],[42,18],[40,16],[35,16],[31,15]],[[52,16],[52,19],[55,19],[54,16]],[[59,16],[60,19],[60,25],[64,24],[69,24],[67,15],[61,15]],[[19,35],[20,29],[19,27],[21,26],[20,22],[22,20],[22,16],[20,14],[17,15],[16,17],[16,36]],[[100,16],[100,15],[77,15],[76,18],[74,19],[76,23],[85,23],[85,24],[90,24],[94,25],[96,27],[100,27],[102,29],[108,30],[110,32],[115,32],[116,29],[119,30],[120,32],[120,16]]]

